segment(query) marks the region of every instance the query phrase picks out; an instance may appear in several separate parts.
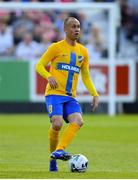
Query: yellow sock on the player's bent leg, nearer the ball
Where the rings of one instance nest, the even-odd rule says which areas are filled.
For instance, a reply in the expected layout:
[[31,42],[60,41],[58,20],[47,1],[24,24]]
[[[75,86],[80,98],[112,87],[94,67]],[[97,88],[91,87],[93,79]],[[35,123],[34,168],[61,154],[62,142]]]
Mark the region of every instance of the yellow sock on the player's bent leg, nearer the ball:
[[70,123],[69,126],[64,130],[56,150],[65,149],[71,143],[72,139],[74,138],[79,129],[80,126],[78,124]]

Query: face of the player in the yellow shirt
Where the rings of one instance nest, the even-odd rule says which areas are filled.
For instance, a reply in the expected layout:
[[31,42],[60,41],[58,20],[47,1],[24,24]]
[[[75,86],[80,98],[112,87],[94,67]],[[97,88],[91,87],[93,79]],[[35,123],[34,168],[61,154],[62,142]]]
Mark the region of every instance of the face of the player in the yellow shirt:
[[77,19],[71,19],[65,27],[67,38],[72,41],[78,40],[80,37],[80,23]]

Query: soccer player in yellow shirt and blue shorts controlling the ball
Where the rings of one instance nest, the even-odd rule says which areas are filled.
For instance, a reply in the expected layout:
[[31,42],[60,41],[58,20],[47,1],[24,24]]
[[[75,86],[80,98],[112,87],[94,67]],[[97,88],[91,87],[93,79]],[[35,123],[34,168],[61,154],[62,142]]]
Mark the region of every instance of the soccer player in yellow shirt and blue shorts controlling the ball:
[[[46,106],[51,121],[50,171],[58,171],[57,159],[69,160],[71,155],[64,151],[83,125],[81,107],[76,97],[78,76],[92,95],[92,110],[98,107],[99,95],[89,74],[87,49],[77,42],[80,36],[80,22],[74,17],[64,21],[65,39],[51,44],[36,64],[36,71],[48,80],[45,92]],[[50,63],[49,72],[45,66]],[[63,119],[68,126],[61,139]]]

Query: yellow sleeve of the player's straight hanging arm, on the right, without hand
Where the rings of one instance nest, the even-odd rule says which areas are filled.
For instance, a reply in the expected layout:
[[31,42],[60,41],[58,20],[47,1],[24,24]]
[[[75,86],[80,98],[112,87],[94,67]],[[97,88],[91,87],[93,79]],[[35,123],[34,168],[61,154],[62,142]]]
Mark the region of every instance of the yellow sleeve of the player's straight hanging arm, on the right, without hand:
[[85,87],[88,89],[89,93],[92,96],[99,96],[99,94],[97,93],[94,84],[91,80],[91,76],[90,76],[90,72],[89,72],[89,63],[88,63],[88,53],[86,51],[86,56],[84,59],[84,62],[82,64],[81,67],[81,77],[82,77],[82,81],[85,85]]

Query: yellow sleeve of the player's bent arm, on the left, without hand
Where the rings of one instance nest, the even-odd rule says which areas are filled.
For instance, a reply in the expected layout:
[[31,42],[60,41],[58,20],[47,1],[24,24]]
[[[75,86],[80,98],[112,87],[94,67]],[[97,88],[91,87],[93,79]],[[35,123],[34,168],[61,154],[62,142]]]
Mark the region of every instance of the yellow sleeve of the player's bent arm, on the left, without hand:
[[54,59],[55,48],[54,44],[49,46],[47,51],[41,56],[38,63],[36,64],[36,72],[39,73],[43,78],[47,79],[51,74],[45,69],[46,65]]

